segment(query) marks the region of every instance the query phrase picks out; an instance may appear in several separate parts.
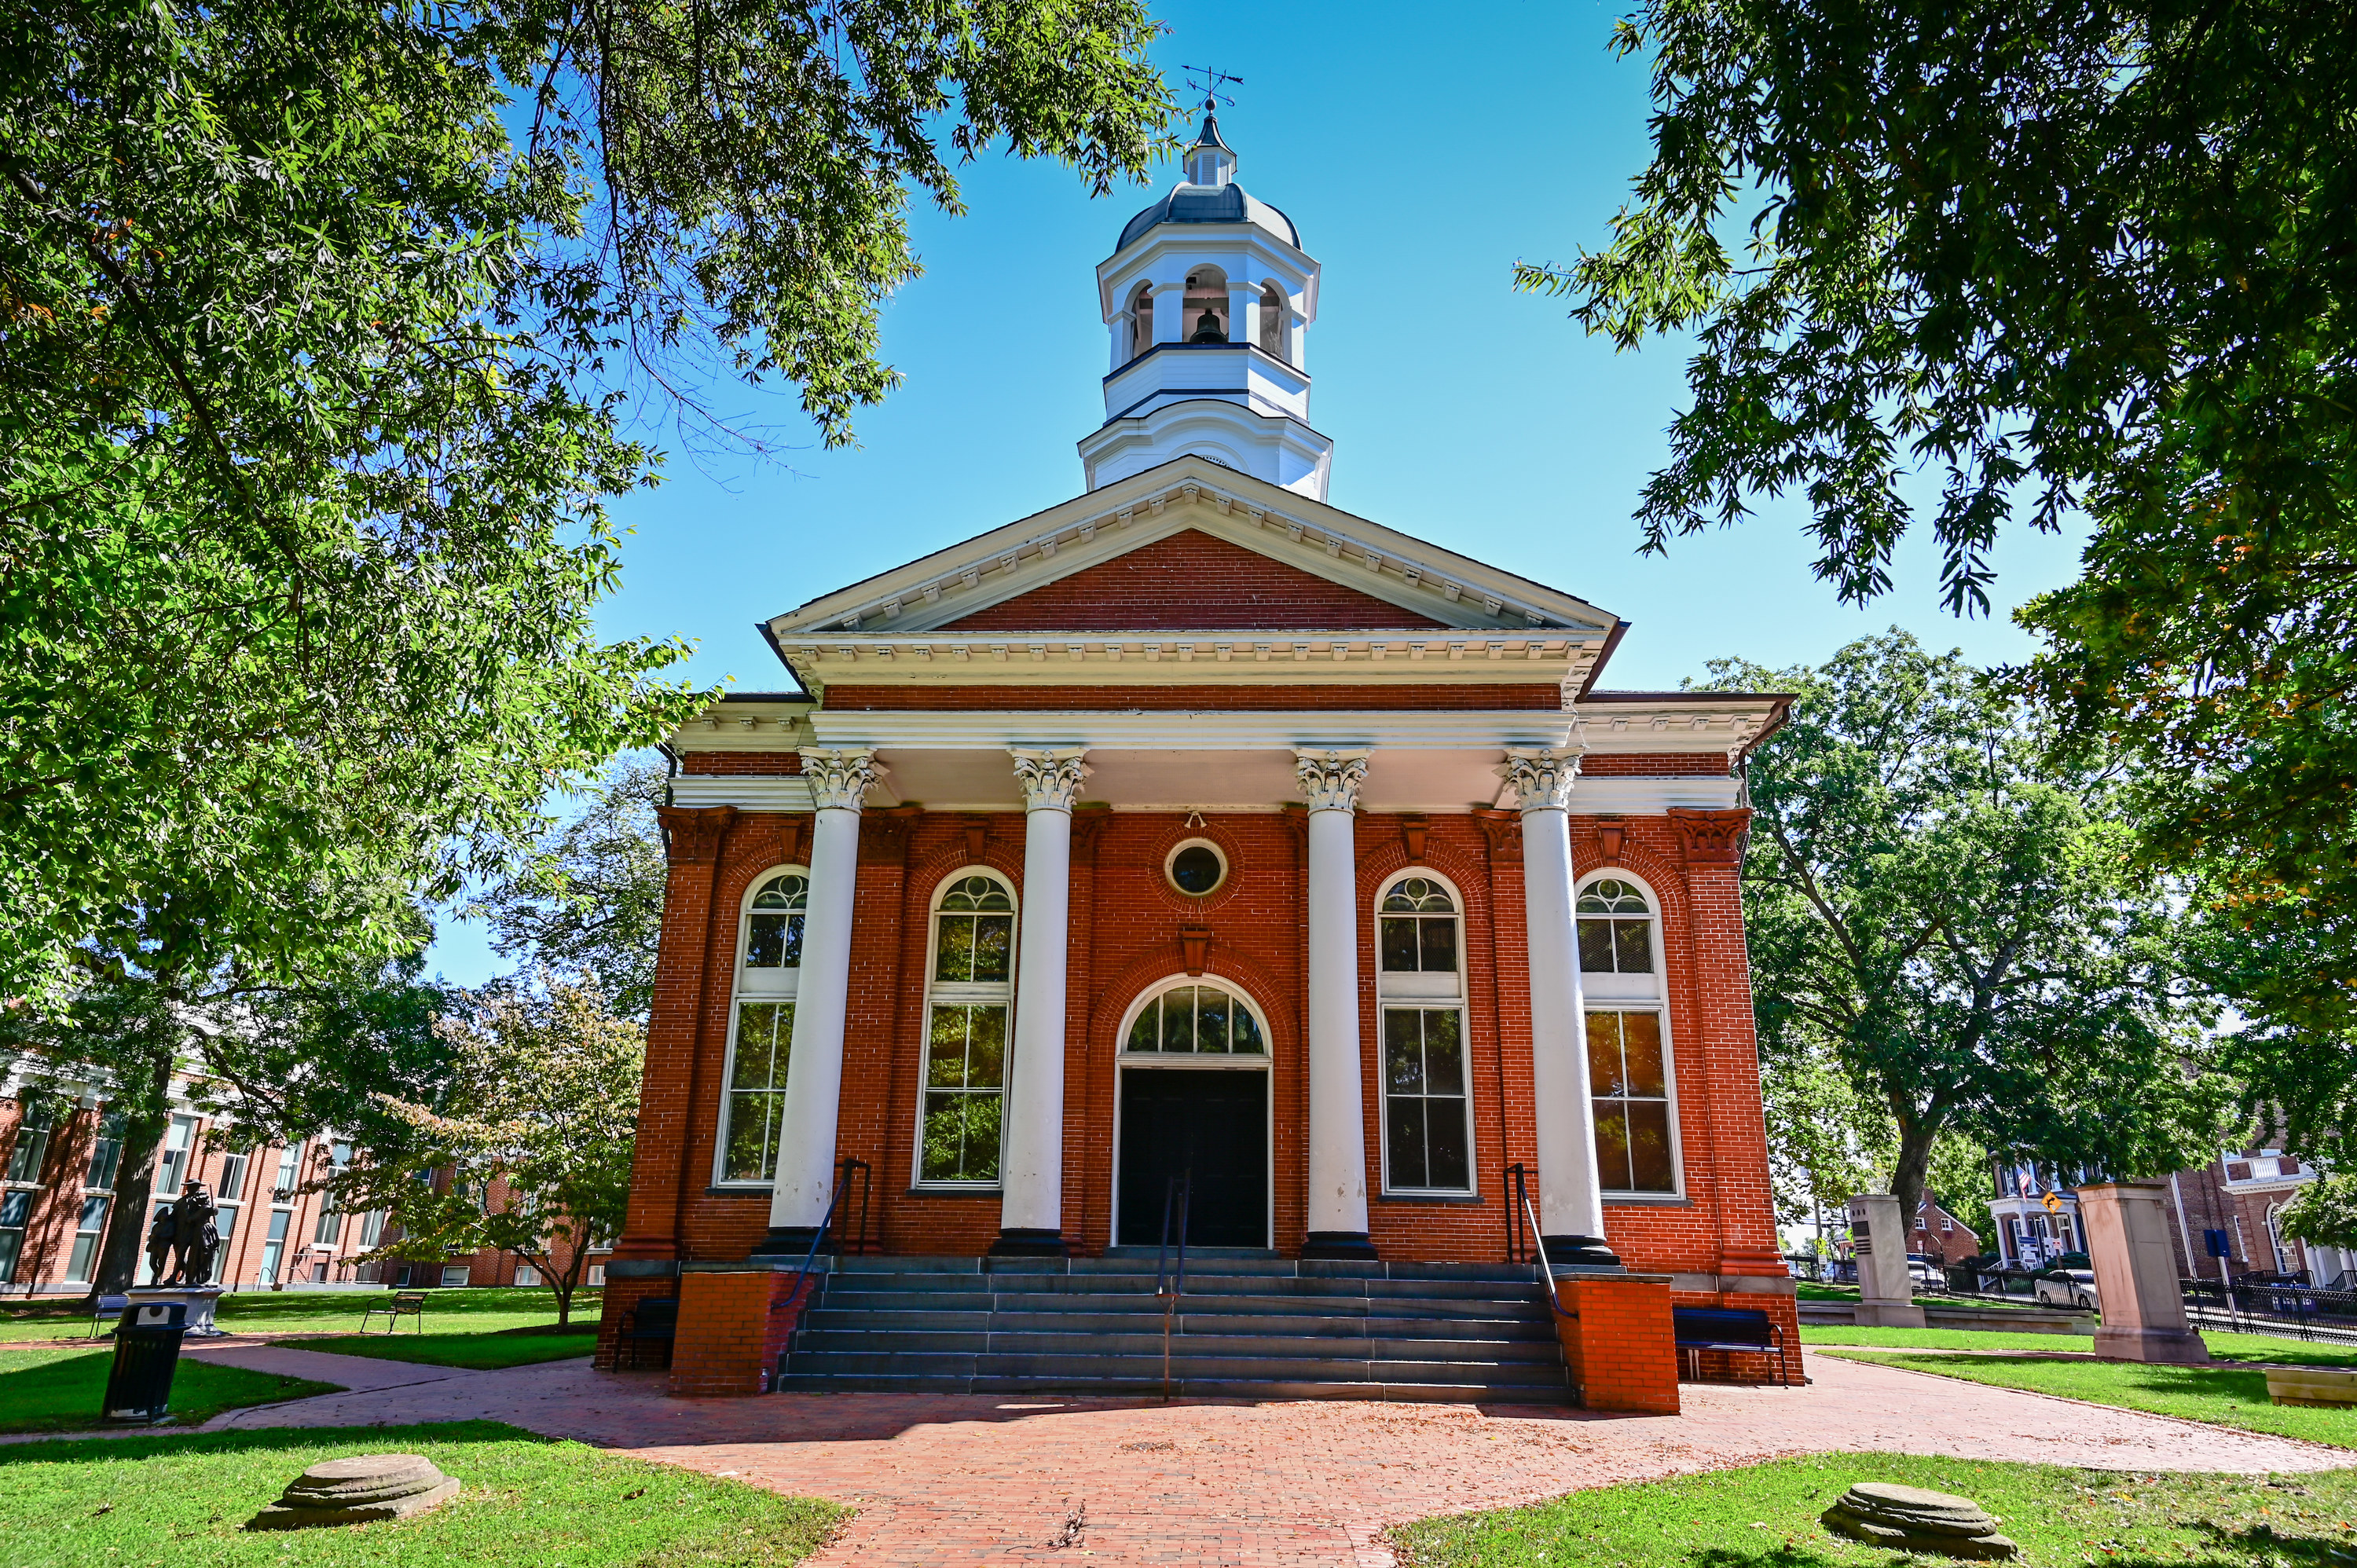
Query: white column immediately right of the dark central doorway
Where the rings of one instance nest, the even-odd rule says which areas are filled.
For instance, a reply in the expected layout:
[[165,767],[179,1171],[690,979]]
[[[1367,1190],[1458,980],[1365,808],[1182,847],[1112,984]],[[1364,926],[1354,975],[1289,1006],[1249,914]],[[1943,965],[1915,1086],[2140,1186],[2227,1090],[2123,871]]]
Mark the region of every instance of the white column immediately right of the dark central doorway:
[[1367,1096],[1358,1059],[1358,788],[1367,752],[1296,750],[1310,806],[1310,1203],[1301,1257],[1367,1243]]

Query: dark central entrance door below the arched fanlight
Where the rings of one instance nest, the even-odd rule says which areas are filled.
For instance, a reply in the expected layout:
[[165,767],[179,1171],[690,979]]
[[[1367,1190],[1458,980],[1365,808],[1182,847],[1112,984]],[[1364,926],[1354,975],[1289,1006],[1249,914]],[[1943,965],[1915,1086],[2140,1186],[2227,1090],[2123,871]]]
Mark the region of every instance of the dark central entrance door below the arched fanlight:
[[1162,1240],[1162,1195],[1183,1172],[1190,1247],[1268,1245],[1268,1073],[1122,1070],[1122,1245]]

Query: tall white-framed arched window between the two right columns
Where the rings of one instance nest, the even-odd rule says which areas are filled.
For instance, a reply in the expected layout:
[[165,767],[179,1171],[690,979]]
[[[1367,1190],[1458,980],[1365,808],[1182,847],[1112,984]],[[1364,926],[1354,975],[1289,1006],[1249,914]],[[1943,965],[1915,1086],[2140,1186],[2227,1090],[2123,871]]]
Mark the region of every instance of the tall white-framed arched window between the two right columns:
[[1384,1019],[1384,1191],[1473,1191],[1473,1073],[1466,1063],[1457,894],[1407,875],[1374,910]]

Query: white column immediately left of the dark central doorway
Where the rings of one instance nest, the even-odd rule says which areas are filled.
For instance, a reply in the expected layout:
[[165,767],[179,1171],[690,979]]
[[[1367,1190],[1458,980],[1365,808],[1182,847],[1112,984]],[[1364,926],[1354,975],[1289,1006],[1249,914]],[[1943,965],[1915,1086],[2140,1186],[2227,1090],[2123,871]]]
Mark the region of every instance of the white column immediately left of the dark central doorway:
[[997,1254],[1063,1257],[1063,1014],[1072,931],[1072,799],[1087,747],[1009,747],[1023,785],[1023,938],[999,1146]]

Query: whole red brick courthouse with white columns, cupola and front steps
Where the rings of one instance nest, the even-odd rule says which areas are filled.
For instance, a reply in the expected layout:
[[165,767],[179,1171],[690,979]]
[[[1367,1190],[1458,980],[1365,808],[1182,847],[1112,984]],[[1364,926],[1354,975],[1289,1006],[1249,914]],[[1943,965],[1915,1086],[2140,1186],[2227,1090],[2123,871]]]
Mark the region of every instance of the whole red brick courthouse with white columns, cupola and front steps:
[[1098,269],[1089,490],[768,620],[801,691],[672,738],[601,1363],[676,1299],[679,1391],[1160,1379],[1181,1193],[1190,1389],[1673,1408],[1671,1302],[1798,1337],[1782,700],[1598,691],[1626,622],[1325,505],[1318,264],[1233,170],[1207,123]]

